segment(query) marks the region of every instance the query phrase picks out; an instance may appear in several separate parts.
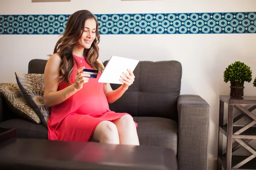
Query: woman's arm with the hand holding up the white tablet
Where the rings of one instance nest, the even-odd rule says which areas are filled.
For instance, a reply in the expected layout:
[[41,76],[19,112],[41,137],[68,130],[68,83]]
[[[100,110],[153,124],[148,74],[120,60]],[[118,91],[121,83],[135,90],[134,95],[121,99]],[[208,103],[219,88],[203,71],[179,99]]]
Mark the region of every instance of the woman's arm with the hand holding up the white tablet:
[[[102,62],[99,59],[98,62],[102,64]],[[104,68],[103,64],[102,66]],[[125,91],[127,91],[128,87],[134,82],[135,77],[133,73],[131,71],[129,71],[129,73],[130,74],[125,73],[125,75],[122,75],[122,77],[120,77],[120,81],[122,81],[124,84],[114,91],[109,83],[104,83],[103,89],[105,96],[107,97],[108,103],[113,103],[117,99],[119,99],[125,93]]]

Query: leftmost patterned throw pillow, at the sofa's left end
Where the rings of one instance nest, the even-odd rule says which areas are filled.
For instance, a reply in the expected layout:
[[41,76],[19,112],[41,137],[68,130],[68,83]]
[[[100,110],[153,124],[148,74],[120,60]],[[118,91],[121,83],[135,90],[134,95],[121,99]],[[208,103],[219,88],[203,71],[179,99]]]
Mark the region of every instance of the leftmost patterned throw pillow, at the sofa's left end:
[[41,123],[33,107],[23,97],[17,83],[0,83],[0,96],[18,116],[36,124]]

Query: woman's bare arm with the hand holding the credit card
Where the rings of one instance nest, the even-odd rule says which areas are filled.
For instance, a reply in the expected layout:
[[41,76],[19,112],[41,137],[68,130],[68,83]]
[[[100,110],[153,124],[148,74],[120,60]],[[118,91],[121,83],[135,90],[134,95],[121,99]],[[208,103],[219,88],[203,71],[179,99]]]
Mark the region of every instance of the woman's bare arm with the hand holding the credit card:
[[59,77],[59,68],[60,68],[61,58],[58,53],[53,54],[44,70],[44,104],[47,107],[58,105],[61,102],[64,102],[70,96],[79,91],[82,88],[82,85],[85,82],[88,82],[88,78],[83,76],[88,76],[88,74],[81,74],[80,71],[84,67],[81,67],[77,70],[76,73],[76,83],[64,88],[61,91],[58,90],[58,77]]

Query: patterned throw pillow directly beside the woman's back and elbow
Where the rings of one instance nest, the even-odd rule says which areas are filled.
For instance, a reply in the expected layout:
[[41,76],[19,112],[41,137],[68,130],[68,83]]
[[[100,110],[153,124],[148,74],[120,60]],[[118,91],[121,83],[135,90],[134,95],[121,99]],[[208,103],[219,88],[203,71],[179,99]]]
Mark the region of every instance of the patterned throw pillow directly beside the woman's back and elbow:
[[17,84],[26,101],[35,109],[43,125],[47,127],[50,108],[44,105],[44,74],[15,72]]

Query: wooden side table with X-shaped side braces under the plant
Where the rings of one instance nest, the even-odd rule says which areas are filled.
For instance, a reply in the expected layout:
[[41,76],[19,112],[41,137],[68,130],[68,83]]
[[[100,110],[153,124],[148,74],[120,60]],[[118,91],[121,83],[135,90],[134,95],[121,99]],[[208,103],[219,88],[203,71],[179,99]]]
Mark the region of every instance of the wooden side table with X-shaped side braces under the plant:
[[[224,102],[228,104],[227,124],[224,124]],[[253,105],[248,110],[242,105]],[[234,117],[236,108],[241,114]],[[256,139],[256,116],[251,113],[256,109],[256,96],[230,97],[220,96],[218,136],[218,170],[256,170],[256,150],[248,142]],[[252,122],[244,127],[234,126],[233,123],[247,116]],[[223,150],[223,134],[227,136],[227,149]],[[232,145],[232,139],[236,141]],[[250,151],[250,156],[232,156],[232,153],[244,147]]]

